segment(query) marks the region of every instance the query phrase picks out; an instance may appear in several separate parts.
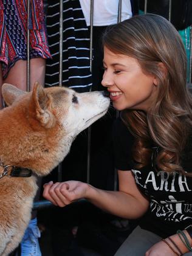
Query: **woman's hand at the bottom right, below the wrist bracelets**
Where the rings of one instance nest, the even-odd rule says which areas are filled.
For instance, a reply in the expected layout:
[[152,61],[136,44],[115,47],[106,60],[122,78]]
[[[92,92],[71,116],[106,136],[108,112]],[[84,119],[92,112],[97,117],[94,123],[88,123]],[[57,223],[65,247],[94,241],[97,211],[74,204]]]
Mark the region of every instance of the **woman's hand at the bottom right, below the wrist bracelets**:
[[[171,244],[172,246],[172,244]],[[177,252],[177,249],[174,248]],[[163,241],[154,244],[146,253],[145,256],[176,256],[170,247]]]

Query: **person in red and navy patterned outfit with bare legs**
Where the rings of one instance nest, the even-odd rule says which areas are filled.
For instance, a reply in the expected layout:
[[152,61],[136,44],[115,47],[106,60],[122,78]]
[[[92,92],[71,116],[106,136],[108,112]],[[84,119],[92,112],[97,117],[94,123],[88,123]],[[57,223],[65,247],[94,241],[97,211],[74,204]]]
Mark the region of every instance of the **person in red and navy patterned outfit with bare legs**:
[[[51,58],[47,43],[43,0],[31,2],[30,88],[35,81],[44,85],[45,63]],[[0,86],[12,83],[27,89],[27,1],[0,1]],[[2,97],[0,100],[2,108]]]

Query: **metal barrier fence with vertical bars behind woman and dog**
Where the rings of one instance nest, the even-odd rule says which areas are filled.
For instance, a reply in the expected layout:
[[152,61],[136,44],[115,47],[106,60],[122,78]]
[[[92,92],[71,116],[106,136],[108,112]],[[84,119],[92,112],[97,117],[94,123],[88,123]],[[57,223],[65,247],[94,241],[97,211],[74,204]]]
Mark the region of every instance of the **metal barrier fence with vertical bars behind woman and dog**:
[[[95,0],[97,1],[97,0]],[[169,1],[169,12],[168,12],[168,18],[171,21],[171,7],[172,7],[172,0]],[[90,0],[90,5],[91,5],[91,12],[90,12],[90,17],[91,17],[91,29],[90,29],[90,67],[92,71],[92,58],[93,58],[93,53],[92,53],[92,45],[93,45],[93,33],[94,33],[94,0]],[[148,12],[148,0],[145,0],[144,4],[144,13]],[[27,13],[29,16],[30,13],[30,1],[28,1],[27,4]],[[118,19],[117,22],[121,21],[121,15],[122,15],[122,0],[119,0],[118,2]],[[29,61],[29,30],[27,33],[27,91],[30,91],[30,61]],[[188,85],[190,88],[192,88],[191,84],[191,60],[192,60],[192,47],[191,47],[191,41],[192,41],[192,33],[191,33],[191,26],[190,26],[190,61],[188,61],[188,70],[189,70],[189,79],[188,79]],[[62,74],[63,74],[63,60],[62,60],[62,52],[63,52],[63,0],[60,0],[60,70],[59,70],[59,82],[60,86],[62,85]],[[88,139],[87,139],[87,182],[89,183],[90,181],[90,157],[91,157],[91,127],[88,130]],[[61,181],[61,165],[58,166],[58,181]],[[115,176],[114,176],[114,189],[117,188],[117,171],[115,171]],[[43,200],[43,201],[38,201],[34,202],[33,209],[43,209],[45,207],[52,206],[51,202]]]

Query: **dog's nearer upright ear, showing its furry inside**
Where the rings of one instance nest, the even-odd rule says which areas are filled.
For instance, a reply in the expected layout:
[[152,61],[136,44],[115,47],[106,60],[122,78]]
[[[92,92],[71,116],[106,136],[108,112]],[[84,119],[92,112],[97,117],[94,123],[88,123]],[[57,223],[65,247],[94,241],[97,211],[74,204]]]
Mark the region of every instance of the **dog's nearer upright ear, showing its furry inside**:
[[46,128],[55,125],[55,116],[50,111],[52,96],[47,94],[38,82],[33,86],[32,99],[35,105],[36,119]]

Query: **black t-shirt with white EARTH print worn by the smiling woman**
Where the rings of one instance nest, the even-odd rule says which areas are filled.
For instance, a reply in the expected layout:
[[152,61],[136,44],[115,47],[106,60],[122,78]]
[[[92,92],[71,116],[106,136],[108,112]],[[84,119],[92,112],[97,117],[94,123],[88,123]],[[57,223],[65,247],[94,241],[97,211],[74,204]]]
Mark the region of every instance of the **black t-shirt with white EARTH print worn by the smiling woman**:
[[[150,202],[140,226],[165,238],[192,224],[192,178],[177,172],[156,171],[152,164],[135,170],[131,153],[134,137],[120,118],[115,120],[113,138],[115,167],[131,170],[137,187]],[[184,150],[182,167],[192,172],[191,137]]]

